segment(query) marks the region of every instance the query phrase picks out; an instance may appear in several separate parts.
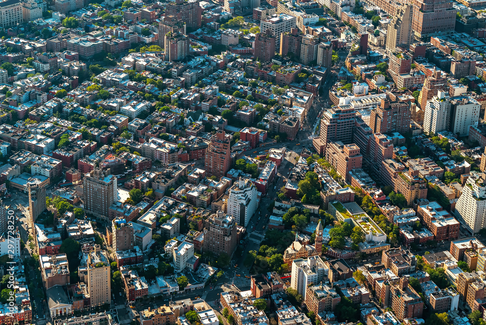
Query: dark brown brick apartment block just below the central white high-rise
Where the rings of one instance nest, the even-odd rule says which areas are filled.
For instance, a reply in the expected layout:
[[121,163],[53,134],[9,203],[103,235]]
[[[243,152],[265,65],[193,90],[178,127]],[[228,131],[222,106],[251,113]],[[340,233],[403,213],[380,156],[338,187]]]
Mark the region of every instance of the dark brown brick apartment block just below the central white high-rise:
[[211,215],[204,228],[203,252],[232,256],[238,244],[236,228],[235,218],[222,210]]

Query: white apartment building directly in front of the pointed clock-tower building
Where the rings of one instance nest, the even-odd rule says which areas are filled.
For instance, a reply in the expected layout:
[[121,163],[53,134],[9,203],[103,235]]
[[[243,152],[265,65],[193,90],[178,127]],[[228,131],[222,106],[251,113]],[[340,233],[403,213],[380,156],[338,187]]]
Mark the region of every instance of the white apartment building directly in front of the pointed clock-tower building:
[[292,261],[292,279],[290,286],[304,297],[307,285],[321,282],[329,273],[329,269],[319,256],[310,256],[307,259],[298,258]]

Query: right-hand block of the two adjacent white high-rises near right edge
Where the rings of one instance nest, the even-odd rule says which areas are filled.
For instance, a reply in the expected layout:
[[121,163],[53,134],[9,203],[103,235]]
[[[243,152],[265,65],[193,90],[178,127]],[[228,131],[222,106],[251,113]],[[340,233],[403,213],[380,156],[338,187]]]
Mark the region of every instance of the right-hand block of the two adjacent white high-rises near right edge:
[[469,135],[469,126],[479,123],[481,104],[469,96],[456,97],[451,100],[451,131],[459,136]]

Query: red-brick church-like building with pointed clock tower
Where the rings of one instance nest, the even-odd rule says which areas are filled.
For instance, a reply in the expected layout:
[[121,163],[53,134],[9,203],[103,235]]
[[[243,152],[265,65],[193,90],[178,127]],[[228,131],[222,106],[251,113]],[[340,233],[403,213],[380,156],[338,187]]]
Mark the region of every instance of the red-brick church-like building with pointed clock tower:
[[290,265],[297,258],[307,258],[314,255],[320,257],[322,254],[322,231],[322,224],[319,221],[315,228],[314,245],[309,244],[311,237],[308,235],[295,233],[294,242],[283,252],[283,262]]

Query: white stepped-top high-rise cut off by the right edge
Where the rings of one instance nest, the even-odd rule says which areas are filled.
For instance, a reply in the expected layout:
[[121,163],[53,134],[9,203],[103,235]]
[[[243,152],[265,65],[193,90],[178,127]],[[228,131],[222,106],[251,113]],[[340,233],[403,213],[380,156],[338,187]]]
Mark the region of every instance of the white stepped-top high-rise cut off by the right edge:
[[486,173],[471,172],[455,207],[455,215],[472,234],[486,227]]

